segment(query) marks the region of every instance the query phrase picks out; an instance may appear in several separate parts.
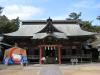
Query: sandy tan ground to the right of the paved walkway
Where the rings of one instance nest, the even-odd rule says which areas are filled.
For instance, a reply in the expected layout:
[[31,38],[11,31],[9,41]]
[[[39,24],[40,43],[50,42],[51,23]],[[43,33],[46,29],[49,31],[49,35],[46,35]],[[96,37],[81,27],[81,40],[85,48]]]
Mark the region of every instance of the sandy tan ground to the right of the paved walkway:
[[100,64],[60,66],[63,75],[100,75]]

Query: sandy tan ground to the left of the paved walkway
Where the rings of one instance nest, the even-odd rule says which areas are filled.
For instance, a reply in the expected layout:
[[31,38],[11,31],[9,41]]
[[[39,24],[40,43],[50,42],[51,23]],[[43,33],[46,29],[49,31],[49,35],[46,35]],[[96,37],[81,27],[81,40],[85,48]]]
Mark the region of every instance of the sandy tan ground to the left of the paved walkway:
[[8,66],[0,70],[0,75],[39,75],[40,68],[33,66],[22,67],[19,65]]

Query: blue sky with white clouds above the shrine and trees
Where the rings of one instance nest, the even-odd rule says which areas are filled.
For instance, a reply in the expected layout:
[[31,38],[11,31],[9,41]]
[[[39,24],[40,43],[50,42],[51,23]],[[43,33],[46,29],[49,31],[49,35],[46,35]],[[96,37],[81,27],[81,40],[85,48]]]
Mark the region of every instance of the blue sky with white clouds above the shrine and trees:
[[21,20],[40,20],[68,18],[71,12],[82,12],[83,20],[93,21],[100,25],[96,17],[100,15],[100,0],[0,0],[5,7],[2,14],[10,19],[20,17]]

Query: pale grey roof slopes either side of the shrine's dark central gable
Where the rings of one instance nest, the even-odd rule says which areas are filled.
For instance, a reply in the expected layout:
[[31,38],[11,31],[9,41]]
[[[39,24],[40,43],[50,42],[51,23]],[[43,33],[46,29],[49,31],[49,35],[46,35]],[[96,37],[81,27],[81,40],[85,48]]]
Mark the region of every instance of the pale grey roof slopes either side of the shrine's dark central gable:
[[[22,21],[25,22],[25,21]],[[31,22],[31,21],[26,21]],[[35,21],[34,21],[35,22]],[[42,21],[43,22],[43,21]],[[52,22],[53,23],[53,22]],[[48,36],[47,33],[37,34],[37,32],[41,31],[47,23],[33,23],[33,24],[26,24],[21,25],[18,31],[13,33],[5,34],[7,36],[33,36],[35,38],[43,38]],[[84,31],[80,28],[79,24],[71,24],[71,23],[53,23],[53,26],[58,29],[59,31],[63,32],[61,33],[54,33],[57,35],[57,37],[63,37],[65,36],[84,36],[84,35],[94,35],[95,33]]]

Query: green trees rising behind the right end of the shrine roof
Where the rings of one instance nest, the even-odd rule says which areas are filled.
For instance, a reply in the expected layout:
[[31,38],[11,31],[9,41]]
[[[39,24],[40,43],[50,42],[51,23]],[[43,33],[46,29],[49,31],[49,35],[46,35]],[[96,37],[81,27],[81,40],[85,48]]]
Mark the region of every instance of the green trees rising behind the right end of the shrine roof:
[[[80,13],[76,13],[76,12],[72,12],[69,14],[70,19],[73,20],[78,20],[80,23],[80,27],[85,30],[85,31],[90,31],[90,32],[100,32],[100,26],[93,26],[92,25],[92,21],[82,21],[81,19],[79,19],[81,16],[81,12]],[[98,20],[100,20],[100,16],[97,17]]]

